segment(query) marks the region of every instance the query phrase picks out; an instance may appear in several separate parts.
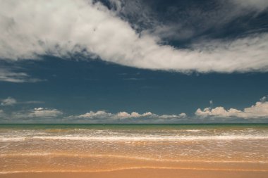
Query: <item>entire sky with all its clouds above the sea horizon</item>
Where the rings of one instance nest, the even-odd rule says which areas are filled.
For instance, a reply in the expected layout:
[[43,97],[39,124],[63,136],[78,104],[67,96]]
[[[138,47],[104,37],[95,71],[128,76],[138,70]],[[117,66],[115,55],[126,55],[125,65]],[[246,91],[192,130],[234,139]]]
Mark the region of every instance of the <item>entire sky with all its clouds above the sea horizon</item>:
[[0,123],[268,123],[267,0],[0,3]]

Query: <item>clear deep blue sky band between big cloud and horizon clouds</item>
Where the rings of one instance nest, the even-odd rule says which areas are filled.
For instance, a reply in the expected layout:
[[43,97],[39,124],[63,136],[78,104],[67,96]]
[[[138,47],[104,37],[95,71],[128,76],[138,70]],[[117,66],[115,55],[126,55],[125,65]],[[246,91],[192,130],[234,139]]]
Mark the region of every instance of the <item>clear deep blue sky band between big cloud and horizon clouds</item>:
[[[214,106],[243,109],[267,95],[267,72],[181,74],[142,70],[99,60],[75,61],[46,56],[17,63],[42,82],[1,82],[1,98],[42,101],[35,107],[68,114],[121,110],[157,114],[187,113]],[[32,106],[24,106],[31,108]]]

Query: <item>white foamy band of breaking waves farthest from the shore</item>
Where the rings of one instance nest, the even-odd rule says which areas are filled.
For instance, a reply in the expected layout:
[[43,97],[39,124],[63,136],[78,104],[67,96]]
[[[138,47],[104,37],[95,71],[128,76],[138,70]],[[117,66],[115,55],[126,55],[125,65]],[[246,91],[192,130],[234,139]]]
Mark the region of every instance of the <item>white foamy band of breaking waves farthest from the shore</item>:
[[71,141],[231,141],[231,140],[268,140],[267,130],[226,130],[212,132],[206,129],[172,130],[118,130],[118,129],[71,129],[68,132],[46,132],[45,130],[22,130],[2,132],[0,141],[29,140],[71,140]]

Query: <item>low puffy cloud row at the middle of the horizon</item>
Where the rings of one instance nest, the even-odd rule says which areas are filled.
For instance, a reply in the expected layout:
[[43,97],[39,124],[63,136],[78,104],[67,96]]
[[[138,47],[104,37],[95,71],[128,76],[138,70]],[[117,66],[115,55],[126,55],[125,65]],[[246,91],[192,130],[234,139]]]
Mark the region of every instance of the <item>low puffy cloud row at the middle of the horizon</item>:
[[127,113],[125,111],[118,113],[107,113],[104,110],[97,112],[90,111],[83,115],[71,115],[67,120],[80,120],[82,122],[135,122],[135,123],[149,123],[149,122],[176,122],[185,119],[187,115],[181,113],[179,115],[157,115],[151,112],[146,113]]

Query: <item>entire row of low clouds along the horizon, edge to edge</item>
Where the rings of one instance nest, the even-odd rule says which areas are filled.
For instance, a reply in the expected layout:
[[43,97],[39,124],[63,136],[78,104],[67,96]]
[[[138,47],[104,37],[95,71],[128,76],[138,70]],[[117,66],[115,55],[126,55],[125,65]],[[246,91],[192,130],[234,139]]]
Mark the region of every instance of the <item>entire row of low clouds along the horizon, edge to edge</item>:
[[[16,104],[15,98],[8,97],[1,100],[1,106],[11,107]],[[26,101],[23,103],[34,103]],[[209,103],[211,103],[209,101]],[[255,105],[243,110],[229,108],[226,110],[222,106],[215,108],[198,108],[194,115],[180,113],[178,115],[157,115],[155,113],[127,113],[121,111],[118,113],[109,113],[105,110],[90,111],[81,115],[66,115],[61,110],[55,108],[34,108],[28,110],[5,112],[0,110],[1,123],[195,123],[195,122],[254,122],[268,120],[268,101],[267,96],[260,98]]]

